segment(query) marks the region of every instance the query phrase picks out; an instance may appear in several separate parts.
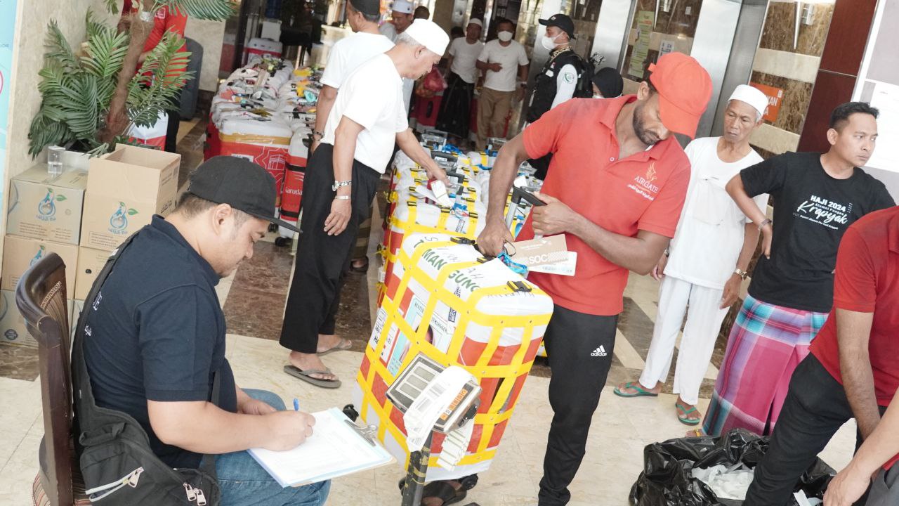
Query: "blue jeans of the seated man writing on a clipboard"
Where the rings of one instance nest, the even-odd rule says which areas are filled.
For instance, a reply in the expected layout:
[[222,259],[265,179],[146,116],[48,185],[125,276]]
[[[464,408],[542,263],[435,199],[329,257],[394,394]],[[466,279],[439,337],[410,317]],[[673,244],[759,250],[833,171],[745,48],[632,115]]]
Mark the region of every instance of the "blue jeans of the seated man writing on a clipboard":
[[[264,390],[244,392],[279,411],[284,410],[284,402],[274,393]],[[331,489],[330,481],[301,487],[281,487],[245,451],[217,456],[216,473],[222,491],[221,506],[321,506],[325,504]]]

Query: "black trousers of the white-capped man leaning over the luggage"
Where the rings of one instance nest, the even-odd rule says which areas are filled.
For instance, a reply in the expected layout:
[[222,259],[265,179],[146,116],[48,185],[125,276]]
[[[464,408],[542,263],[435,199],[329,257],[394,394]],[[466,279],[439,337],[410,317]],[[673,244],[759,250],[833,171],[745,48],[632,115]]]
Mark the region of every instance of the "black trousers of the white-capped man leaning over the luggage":
[[333,155],[334,146],[321,144],[309,159],[303,181],[302,233],[280,335],[281,346],[301,353],[316,353],[318,334],[334,334],[343,276],[350,268],[356,234],[369,215],[380,178],[377,171],[353,161],[350,222],[346,230],[329,236],[325,220],[334,202]]

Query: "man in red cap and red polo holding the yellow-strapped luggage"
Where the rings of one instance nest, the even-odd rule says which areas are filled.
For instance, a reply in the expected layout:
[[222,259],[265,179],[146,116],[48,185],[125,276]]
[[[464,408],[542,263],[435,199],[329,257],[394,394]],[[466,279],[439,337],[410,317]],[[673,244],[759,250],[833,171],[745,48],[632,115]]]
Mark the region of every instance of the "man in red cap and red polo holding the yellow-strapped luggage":
[[681,216],[690,161],[672,132],[692,137],[712,92],[708,72],[681,53],[649,67],[636,95],[574,99],[547,112],[500,150],[490,205],[477,243],[497,255],[512,236],[506,194],[521,162],[553,154],[539,198],[519,239],[565,234],[577,253],[574,276],[532,273],[556,308],[544,338],[552,369],[549,429],[539,504],[571,498],[593,411],[612,361],[628,271],[649,273]]

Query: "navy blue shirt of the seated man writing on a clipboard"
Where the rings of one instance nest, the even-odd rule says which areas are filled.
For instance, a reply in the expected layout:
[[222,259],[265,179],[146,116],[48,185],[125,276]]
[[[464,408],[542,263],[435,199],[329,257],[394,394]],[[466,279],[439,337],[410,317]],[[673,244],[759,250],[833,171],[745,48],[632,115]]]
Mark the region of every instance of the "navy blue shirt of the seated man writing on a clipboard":
[[85,362],[97,405],[138,420],[156,456],[172,467],[196,468],[202,456],[156,438],[147,400],[212,401],[218,371],[219,405],[237,411],[216,285],[209,262],[154,216],[122,251],[96,299],[85,302]]

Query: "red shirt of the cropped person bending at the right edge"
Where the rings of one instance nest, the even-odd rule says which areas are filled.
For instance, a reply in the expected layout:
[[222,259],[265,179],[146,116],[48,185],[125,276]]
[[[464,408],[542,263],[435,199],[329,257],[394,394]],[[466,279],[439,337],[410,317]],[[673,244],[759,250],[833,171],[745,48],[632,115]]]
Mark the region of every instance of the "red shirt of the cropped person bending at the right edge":
[[873,312],[868,353],[877,403],[888,406],[899,387],[899,206],[856,221],[840,242],[833,278],[833,309],[811,351],[842,384],[834,314],[843,309]]

